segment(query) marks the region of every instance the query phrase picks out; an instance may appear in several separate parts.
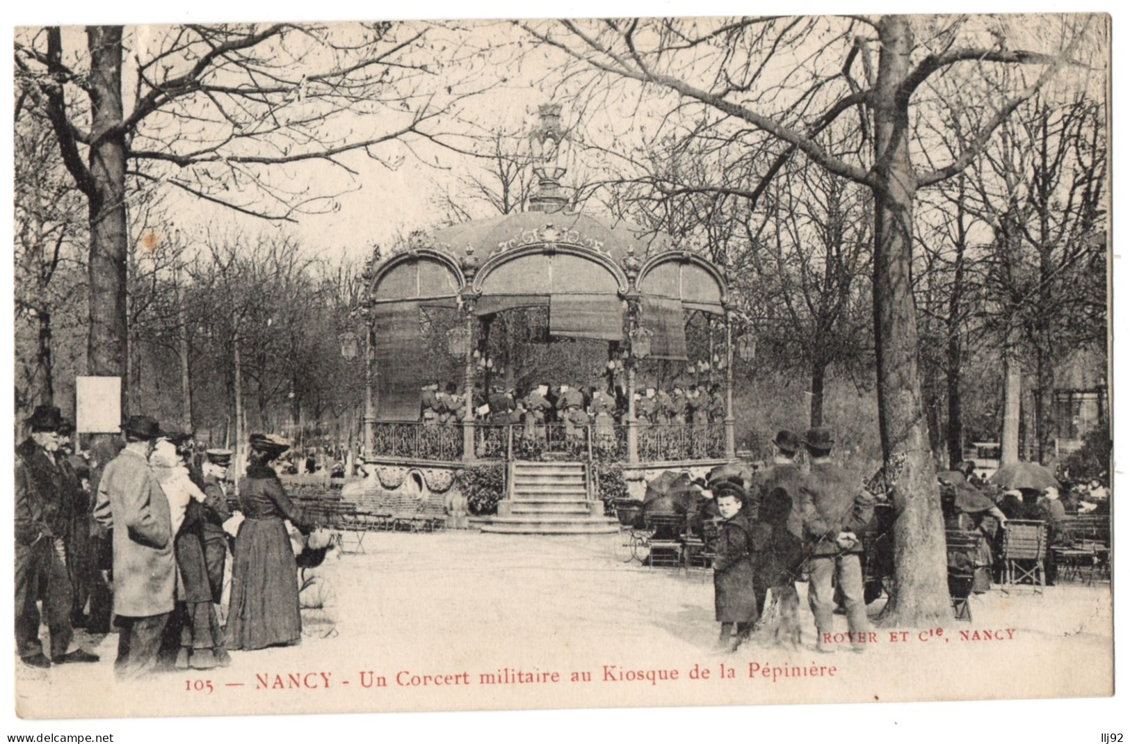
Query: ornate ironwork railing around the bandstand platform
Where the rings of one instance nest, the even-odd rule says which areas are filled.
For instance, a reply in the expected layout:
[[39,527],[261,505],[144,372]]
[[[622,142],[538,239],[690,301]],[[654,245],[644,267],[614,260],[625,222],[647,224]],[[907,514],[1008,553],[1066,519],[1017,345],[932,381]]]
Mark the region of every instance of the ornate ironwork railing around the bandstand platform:
[[[475,424],[475,457],[484,460],[571,460],[627,462],[628,427],[591,424]],[[647,424],[637,427],[641,462],[718,459],[725,456],[725,427],[712,424]],[[462,424],[381,423],[375,425],[379,457],[458,460],[463,457]]]

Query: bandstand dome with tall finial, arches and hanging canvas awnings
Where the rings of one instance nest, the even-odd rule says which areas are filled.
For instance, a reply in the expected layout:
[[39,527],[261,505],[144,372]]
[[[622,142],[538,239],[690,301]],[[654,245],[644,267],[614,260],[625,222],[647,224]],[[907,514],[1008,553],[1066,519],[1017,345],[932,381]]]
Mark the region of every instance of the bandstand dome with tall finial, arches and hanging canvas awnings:
[[[725,311],[725,277],[702,256],[654,231],[565,208],[559,107],[540,106],[539,114],[529,210],[414,233],[403,249],[366,267],[382,419],[419,415],[423,371],[414,352],[423,308],[460,308],[487,321],[545,306],[550,336],[627,341],[633,353],[663,360],[687,358],[685,311]],[[467,354],[468,364],[471,335],[470,325],[449,331],[462,337],[449,348]]]

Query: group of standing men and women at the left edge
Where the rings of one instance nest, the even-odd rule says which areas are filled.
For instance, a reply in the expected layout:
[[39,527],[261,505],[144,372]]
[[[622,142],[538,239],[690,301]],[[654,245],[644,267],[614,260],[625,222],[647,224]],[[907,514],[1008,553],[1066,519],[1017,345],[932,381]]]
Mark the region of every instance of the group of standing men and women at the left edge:
[[97,661],[73,647],[75,628],[118,633],[123,681],[227,666],[231,650],[302,640],[294,545],[319,545],[301,538],[314,525],[278,478],[285,440],[250,438],[233,510],[232,452],[201,452],[189,432],[131,416],[116,445],[76,452],[59,408],[38,406],[27,423],[16,452],[16,641],[25,665]]

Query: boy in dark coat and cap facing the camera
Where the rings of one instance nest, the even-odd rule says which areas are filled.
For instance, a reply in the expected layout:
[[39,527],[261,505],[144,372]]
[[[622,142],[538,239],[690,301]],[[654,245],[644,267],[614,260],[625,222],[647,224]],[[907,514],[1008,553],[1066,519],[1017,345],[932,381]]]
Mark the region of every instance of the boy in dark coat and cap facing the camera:
[[[732,483],[720,484],[714,491],[722,522],[714,544],[714,613],[722,623],[718,639],[720,648],[736,649],[753,631],[757,621],[757,598],[754,595],[756,550],[754,525],[746,518],[746,491]],[[731,640],[737,626],[737,635]]]

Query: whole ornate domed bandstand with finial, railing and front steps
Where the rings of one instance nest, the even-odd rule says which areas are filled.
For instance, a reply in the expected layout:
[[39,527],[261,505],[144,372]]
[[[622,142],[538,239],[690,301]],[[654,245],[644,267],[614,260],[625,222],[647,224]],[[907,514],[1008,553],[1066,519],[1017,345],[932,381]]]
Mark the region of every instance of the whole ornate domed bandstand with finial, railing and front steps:
[[[484,531],[575,534],[615,531],[599,495],[601,467],[614,462],[631,498],[664,470],[705,474],[736,458],[733,426],[734,311],[723,271],[679,250],[666,235],[608,224],[567,210],[564,168],[553,164],[562,132],[555,106],[541,110],[536,150],[549,153],[534,172],[538,191],[527,211],[418,234],[405,250],[374,256],[366,267],[366,315],[373,344],[368,374],[365,459],[382,490],[411,491],[451,503],[459,470],[504,468],[497,514]],[[446,308],[459,319],[449,353],[462,362],[462,421],[420,419],[428,379],[412,355],[421,308]],[[548,310],[550,336],[609,345],[626,387],[619,423],[568,426],[492,423],[477,416],[485,399],[479,349],[492,320],[523,308]],[[685,318],[698,311],[722,331],[718,355],[724,417],[709,423],[653,423],[638,416],[635,392],[647,360],[688,361]],[[609,366],[612,363],[610,362]],[[719,369],[720,367],[720,369]],[[375,401],[373,388],[375,387]]]

